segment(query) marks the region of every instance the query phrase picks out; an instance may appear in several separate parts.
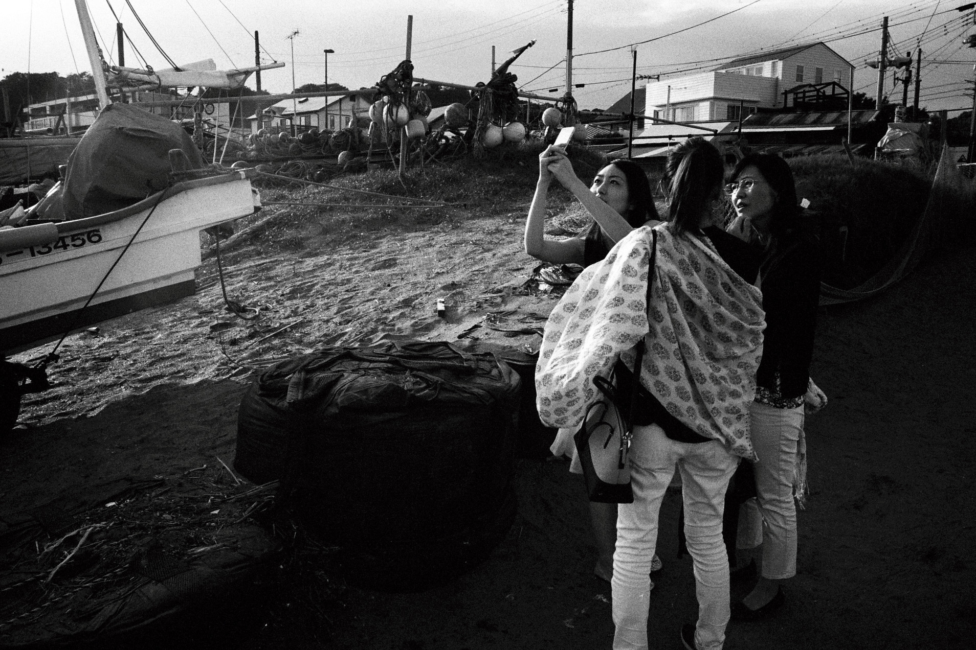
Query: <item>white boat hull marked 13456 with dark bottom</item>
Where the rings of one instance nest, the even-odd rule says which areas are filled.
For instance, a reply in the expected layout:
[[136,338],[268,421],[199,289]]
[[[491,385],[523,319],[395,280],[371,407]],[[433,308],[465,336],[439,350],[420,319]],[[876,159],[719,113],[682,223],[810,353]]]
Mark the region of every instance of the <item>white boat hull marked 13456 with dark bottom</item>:
[[260,207],[249,172],[242,170],[183,181],[122,210],[0,230],[0,350],[12,354],[53,340],[72,325],[193,293],[199,231]]

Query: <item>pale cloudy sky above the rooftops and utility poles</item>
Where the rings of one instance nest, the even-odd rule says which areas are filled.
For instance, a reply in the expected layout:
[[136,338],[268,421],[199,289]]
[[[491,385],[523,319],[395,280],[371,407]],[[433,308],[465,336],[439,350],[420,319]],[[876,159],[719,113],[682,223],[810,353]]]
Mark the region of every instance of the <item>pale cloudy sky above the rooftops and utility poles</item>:
[[[324,49],[330,82],[371,87],[405,57],[407,17],[413,16],[414,75],[473,85],[491,75],[492,46],[499,63],[531,40],[536,45],[510,68],[517,85],[553,98],[565,83],[568,0],[88,0],[102,49],[115,62],[116,19],[144,60],[168,67],[130,10],[178,64],[213,58],[219,68],[253,65],[254,30],[262,62],[286,63],[262,74],[262,87],[288,93],[322,83]],[[722,57],[793,44],[828,41],[857,66],[854,90],[875,95],[877,73],[865,66],[880,47],[880,21],[889,16],[892,52],[915,51],[921,40],[922,106],[972,104],[976,49],[962,43],[976,33],[973,13],[953,11],[965,0],[574,0],[573,83],[581,108],[605,108],[630,91],[632,43],[638,74],[708,69]],[[0,0],[5,18],[0,78],[11,72],[66,75],[89,70],[74,0]],[[725,15],[725,16],[723,16]],[[707,24],[694,26],[711,20]],[[692,27],[678,34],[673,31]],[[853,32],[874,29],[870,33]],[[294,38],[289,35],[298,31]],[[839,40],[831,40],[838,36]],[[659,38],[663,37],[663,38]],[[294,46],[294,67],[292,65]],[[601,54],[598,50],[619,48]],[[139,61],[126,43],[126,63]],[[552,69],[549,69],[551,66]],[[705,66],[705,67],[702,67]],[[294,75],[294,85],[293,85]],[[638,82],[639,84],[640,82]],[[254,78],[248,81],[254,88]],[[891,92],[889,72],[885,88]],[[558,92],[549,93],[549,89]],[[901,86],[897,90],[901,95]],[[910,101],[914,87],[910,91]]]

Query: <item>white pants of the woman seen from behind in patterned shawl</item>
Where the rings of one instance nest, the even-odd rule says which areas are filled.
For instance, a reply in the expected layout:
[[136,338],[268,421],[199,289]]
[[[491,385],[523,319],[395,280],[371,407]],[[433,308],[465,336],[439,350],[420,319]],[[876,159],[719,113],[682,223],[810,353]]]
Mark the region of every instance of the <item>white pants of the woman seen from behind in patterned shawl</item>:
[[665,436],[657,425],[634,427],[630,443],[633,503],[617,509],[613,557],[614,650],[647,648],[651,559],[658,515],[674,467],[681,475],[684,532],[695,564],[698,650],[718,650],[729,620],[729,565],[722,543],[722,509],[729,479],[739,465],[718,440],[692,444]]

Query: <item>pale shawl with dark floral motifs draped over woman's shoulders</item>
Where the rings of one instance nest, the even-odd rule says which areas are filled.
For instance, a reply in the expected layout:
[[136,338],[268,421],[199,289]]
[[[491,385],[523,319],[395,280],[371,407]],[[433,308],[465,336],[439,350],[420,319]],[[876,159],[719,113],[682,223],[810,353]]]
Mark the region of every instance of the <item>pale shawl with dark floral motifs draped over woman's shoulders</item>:
[[[536,367],[539,415],[551,427],[576,427],[608,377],[644,336],[641,383],[701,436],[754,459],[749,404],[762,356],[762,294],[726,264],[707,238],[675,235],[662,223],[651,304],[647,271],[651,228],[618,242],[588,267],[552,310]],[[650,318],[648,318],[650,317]]]

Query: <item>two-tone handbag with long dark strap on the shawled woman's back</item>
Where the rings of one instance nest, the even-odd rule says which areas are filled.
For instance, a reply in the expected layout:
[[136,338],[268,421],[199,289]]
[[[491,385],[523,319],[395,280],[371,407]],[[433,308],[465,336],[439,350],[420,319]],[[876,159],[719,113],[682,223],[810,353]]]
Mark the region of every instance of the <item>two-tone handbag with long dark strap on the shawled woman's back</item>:
[[[657,238],[657,232],[652,230],[651,261],[647,271],[648,304],[651,298],[651,274],[654,272]],[[644,359],[643,338],[637,342],[634,350],[634,371],[627,373],[630,380],[627,375],[616,370],[615,382],[605,377],[593,377],[593,385],[603,398],[590,404],[579,431],[573,437],[580,465],[583,467],[583,478],[587,483],[587,493],[594,503],[633,503],[628,454],[638,403],[640,366]],[[617,365],[624,363],[618,361]],[[622,413],[626,413],[626,418]]]

